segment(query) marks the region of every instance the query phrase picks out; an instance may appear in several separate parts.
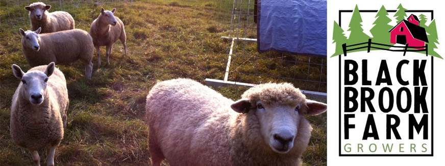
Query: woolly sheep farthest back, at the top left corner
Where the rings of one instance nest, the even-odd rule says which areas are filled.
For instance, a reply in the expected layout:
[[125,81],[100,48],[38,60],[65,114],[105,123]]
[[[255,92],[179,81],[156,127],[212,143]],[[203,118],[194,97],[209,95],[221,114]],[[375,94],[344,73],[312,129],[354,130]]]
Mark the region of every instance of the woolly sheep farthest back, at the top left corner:
[[41,33],[52,33],[74,29],[74,19],[72,16],[63,11],[49,13],[48,10],[51,9],[51,5],[37,2],[24,7],[24,9],[29,11],[28,15],[31,20],[32,31],[42,28]]

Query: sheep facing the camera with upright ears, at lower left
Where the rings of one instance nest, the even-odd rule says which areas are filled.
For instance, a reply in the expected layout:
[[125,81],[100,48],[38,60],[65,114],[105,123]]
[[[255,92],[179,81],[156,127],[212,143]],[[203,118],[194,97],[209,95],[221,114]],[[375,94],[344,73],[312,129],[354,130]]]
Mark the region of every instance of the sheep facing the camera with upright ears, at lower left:
[[12,71],[21,80],[12,97],[12,141],[31,152],[34,165],[40,165],[37,151],[46,147],[46,164],[54,165],[54,153],[66,128],[69,100],[65,77],[54,62],[27,73],[13,64]]

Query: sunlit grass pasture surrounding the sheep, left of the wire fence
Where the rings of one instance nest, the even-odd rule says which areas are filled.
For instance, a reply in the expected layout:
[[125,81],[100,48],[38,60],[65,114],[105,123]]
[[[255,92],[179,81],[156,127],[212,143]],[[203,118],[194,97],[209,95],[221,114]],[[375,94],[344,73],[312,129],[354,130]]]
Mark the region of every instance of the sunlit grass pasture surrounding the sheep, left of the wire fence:
[[[129,54],[123,54],[118,41],[109,65],[97,66],[95,55],[91,80],[84,78],[80,62],[57,65],[65,74],[70,100],[64,139],[56,150],[57,165],[150,165],[144,104],[155,82],[190,78],[204,83],[205,78],[224,77],[228,42],[221,36],[229,34],[231,11],[227,9],[231,10],[233,1],[215,2],[105,4],[107,10],[117,8],[115,16],[126,26]],[[17,2],[0,2],[3,8],[0,11],[0,165],[30,165],[29,151],[15,146],[9,134],[11,99],[19,84],[11,65],[17,64],[24,71],[31,68],[22,55],[18,31],[30,27],[21,23],[29,21],[23,9],[29,3],[11,4]],[[47,4],[53,5],[52,11],[58,10],[58,1]],[[89,31],[102,5],[81,3],[65,11],[73,15],[76,28]],[[102,53],[104,60],[105,47]],[[214,89],[237,100],[247,88]],[[303,165],[326,165],[326,113],[308,119],[314,130]],[[42,164],[46,158],[44,151],[39,151]]]

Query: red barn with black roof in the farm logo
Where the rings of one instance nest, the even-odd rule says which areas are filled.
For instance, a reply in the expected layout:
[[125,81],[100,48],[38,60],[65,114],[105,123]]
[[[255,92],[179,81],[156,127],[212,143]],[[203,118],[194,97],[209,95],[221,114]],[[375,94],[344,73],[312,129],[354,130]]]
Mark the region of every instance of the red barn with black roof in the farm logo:
[[[419,19],[414,14],[408,20],[402,20],[397,26],[389,30],[391,33],[391,43],[408,44],[408,46],[425,46],[428,42],[425,28],[419,26]],[[421,50],[423,48],[416,48]]]

